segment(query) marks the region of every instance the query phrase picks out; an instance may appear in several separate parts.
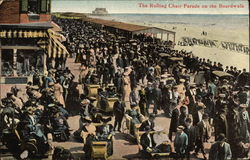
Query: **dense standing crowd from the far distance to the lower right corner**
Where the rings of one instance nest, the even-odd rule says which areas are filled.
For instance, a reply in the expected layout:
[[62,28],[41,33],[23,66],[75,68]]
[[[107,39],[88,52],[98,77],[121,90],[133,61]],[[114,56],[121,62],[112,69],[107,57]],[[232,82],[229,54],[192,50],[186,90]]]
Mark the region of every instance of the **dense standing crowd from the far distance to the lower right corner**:
[[[140,123],[138,112],[149,116],[149,108],[153,105],[153,114],[164,110],[171,118],[170,140],[172,133],[188,135],[187,143],[182,146],[179,146],[182,138],[175,138],[176,152],[180,156],[189,155],[193,150],[197,154],[201,150],[206,158],[204,142],[211,135],[223,144],[227,139],[232,150],[229,157],[246,156],[243,154],[246,152],[239,152],[242,142],[249,143],[249,77],[246,69],[242,72],[233,66],[224,69],[221,63],[200,59],[184,50],[174,50],[171,42],[148,41],[144,35],[134,39],[120,38],[119,33],[114,36],[81,20],[57,19],[57,23],[69,37],[70,46],[74,46],[72,53],[76,55],[76,62],[82,64],[79,82],[83,87],[86,84],[105,87],[114,83],[121,97],[117,102],[119,107],[114,108],[116,125],[123,119],[124,103],[130,104],[132,111],[126,113],[135,124]],[[183,62],[168,61],[160,53],[183,58]],[[213,71],[225,71],[232,76],[218,78]],[[136,106],[140,111],[133,109]],[[195,135],[189,133],[190,128],[195,128]],[[213,148],[211,154],[218,152]]]

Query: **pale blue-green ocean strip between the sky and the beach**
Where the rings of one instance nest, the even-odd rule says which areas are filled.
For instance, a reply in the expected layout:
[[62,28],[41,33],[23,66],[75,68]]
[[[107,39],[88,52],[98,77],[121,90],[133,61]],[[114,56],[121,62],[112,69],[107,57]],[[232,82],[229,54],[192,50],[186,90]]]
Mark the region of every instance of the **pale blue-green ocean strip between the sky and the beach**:
[[146,24],[183,24],[187,26],[218,27],[228,30],[249,30],[248,15],[218,14],[109,14],[92,16],[106,20]]

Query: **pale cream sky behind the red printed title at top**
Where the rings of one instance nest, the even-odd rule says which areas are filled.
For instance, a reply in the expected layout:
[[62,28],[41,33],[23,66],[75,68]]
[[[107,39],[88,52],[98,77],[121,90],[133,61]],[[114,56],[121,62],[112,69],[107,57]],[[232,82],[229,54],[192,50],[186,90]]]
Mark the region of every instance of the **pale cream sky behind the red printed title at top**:
[[[195,5],[199,8],[188,8]],[[203,5],[207,8],[202,8]],[[211,5],[216,8],[211,8]],[[240,5],[241,8],[220,8],[220,5]],[[178,8],[173,8],[176,6]],[[248,6],[248,0],[52,0],[52,12],[78,13],[106,8],[109,13],[249,14]]]

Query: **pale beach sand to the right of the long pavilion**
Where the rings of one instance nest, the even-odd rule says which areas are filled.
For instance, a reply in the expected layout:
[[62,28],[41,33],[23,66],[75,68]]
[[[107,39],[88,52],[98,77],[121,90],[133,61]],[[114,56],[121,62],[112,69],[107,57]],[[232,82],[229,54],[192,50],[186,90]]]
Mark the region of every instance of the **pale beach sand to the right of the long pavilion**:
[[[135,23],[134,23],[135,24]],[[138,23],[137,23],[138,24]],[[227,28],[218,28],[213,26],[194,26],[185,24],[140,24],[147,26],[159,27],[176,32],[176,43],[182,40],[182,37],[192,37],[198,39],[217,40],[219,42],[234,42],[241,43],[249,46],[249,31],[242,30],[231,30]],[[173,30],[173,27],[176,29]],[[185,30],[186,28],[186,30]],[[207,36],[201,35],[202,31],[207,32]],[[184,49],[188,52],[192,51],[195,56],[200,58],[210,59],[212,61],[220,62],[223,67],[234,66],[237,69],[246,68],[249,71],[249,55],[242,52],[230,51],[221,48],[210,48],[204,46],[179,46],[176,45],[176,49]]]

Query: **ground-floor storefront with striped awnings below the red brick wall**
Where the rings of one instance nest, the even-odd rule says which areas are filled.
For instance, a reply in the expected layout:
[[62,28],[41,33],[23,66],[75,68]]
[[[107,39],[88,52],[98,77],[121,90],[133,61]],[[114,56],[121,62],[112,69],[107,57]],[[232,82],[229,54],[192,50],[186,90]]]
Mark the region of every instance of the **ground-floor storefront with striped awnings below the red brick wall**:
[[1,83],[27,83],[35,72],[64,67],[68,52],[50,28],[50,23],[0,25]]

